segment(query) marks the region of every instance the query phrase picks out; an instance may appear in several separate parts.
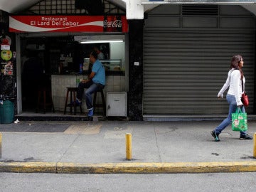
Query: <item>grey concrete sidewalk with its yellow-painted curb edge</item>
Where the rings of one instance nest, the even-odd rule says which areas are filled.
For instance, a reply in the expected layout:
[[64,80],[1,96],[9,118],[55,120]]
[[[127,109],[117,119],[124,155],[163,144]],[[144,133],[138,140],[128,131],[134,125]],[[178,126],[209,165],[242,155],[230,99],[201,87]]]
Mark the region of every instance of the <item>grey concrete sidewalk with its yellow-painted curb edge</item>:
[[[220,121],[20,122],[1,124],[0,171],[72,174],[256,171],[254,142],[230,127],[214,142]],[[248,133],[256,122],[248,122]],[[132,134],[126,160],[125,134]]]

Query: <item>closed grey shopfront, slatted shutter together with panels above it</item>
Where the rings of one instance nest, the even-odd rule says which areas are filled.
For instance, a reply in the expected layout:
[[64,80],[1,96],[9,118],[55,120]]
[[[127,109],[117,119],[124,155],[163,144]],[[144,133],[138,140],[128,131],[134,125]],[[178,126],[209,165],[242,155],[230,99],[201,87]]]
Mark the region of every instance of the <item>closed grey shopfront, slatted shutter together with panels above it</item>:
[[143,114],[226,114],[218,100],[230,59],[245,61],[248,113],[255,113],[255,16],[219,6],[217,16],[184,16],[181,5],[150,11],[144,26]]

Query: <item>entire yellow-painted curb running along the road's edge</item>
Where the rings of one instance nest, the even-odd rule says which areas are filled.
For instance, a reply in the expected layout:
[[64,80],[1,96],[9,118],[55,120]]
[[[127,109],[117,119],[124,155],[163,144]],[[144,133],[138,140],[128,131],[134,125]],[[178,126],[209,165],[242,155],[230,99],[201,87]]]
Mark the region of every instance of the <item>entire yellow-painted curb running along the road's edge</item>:
[[256,171],[256,161],[76,164],[65,162],[0,162],[0,172],[58,174],[183,174]]

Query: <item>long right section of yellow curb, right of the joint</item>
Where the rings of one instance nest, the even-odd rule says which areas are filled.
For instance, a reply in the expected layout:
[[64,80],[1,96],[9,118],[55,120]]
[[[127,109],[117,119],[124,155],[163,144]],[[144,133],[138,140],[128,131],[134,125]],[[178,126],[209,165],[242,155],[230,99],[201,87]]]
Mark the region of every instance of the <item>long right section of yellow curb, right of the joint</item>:
[[59,174],[177,174],[256,171],[255,161],[184,163],[58,163]]

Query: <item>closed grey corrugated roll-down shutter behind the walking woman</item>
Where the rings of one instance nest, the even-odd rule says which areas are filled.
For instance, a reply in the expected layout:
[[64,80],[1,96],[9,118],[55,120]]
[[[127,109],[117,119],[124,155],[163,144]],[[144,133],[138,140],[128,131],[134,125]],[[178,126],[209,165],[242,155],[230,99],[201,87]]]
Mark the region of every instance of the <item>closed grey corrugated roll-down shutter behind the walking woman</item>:
[[244,58],[245,90],[252,112],[253,31],[144,30],[144,114],[224,114],[217,99],[235,54]]

